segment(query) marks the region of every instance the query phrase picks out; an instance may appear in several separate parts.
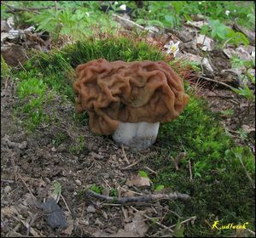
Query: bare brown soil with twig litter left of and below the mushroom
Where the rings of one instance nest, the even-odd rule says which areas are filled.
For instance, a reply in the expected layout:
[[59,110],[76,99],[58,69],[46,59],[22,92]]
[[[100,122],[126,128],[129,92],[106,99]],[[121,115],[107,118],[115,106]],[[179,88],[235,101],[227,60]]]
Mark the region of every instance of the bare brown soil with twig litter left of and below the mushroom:
[[[28,134],[13,116],[14,106],[19,103],[12,93],[14,88],[12,85],[4,91],[1,104],[1,235],[91,236],[125,230],[125,224],[134,222],[136,211],[81,197],[79,191],[90,184],[102,184],[107,191],[116,189],[125,195],[130,191],[126,181],[137,174],[133,167],[122,169],[128,165],[126,160],[132,164],[143,155],[150,156],[149,150],[122,150],[112,139],[94,136],[88,127],[73,122],[74,106],[60,106],[60,98],[55,98],[55,105],[49,104],[49,111],[54,109],[61,122],[43,125]],[[62,142],[58,135],[66,139]],[[70,145],[77,146],[79,137],[84,138],[84,150],[71,151]],[[20,146],[24,142],[26,145]],[[61,183],[59,205],[67,229],[51,229],[47,213],[40,207],[52,194],[54,181]],[[153,216],[163,214],[163,209],[148,207]]]

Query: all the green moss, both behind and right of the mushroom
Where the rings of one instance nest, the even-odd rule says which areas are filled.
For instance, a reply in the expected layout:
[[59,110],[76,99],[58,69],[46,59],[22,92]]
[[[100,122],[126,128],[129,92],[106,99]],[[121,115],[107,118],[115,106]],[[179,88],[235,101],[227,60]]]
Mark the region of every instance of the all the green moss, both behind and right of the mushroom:
[[[48,90],[74,102],[72,88],[74,68],[99,58],[109,61],[166,60],[164,54],[155,48],[150,48],[145,42],[134,42],[123,37],[78,42],[62,48],[61,51],[38,54],[30,59],[24,65],[24,71],[18,74],[20,78],[18,95],[22,99],[22,108],[25,108],[26,116],[35,117],[28,111],[37,111],[38,108],[43,107],[44,92]],[[29,86],[29,82],[33,87]],[[22,87],[26,89],[23,90]],[[156,142],[160,151],[154,160],[148,161],[149,167],[155,170],[160,168],[159,176],[152,178],[154,187],[161,184],[166,189],[191,195],[192,201],[189,203],[181,201],[168,203],[170,209],[184,219],[197,217],[194,225],[186,225],[185,235],[230,235],[232,232],[230,229],[216,231],[209,227],[207,222],[212,224],[217,219],[220,224],[249,222],[248,228],[254,230],[252,184],[241,166],[242,161],[247,172],[254,178],[253,154],[247,147],[236,146],[220,125],[218,117],[209,110],[207,102],[195,98],[189,91],[188,85],[185,88],[191,95],[189,105],[177,120],[161,125]],[[34,97],[33,105],[27,100],[28,97],[30,99]],[[71,116],[76,122],[81,122],[81,126],[88,123],[86,113]],[[41,120],[40,116],[38,118],[38,121],[35,119],[35,125]],[[86,150],[83,139],[79,139],[77,144],[72,144],[69,148],[72,153],[82,150]],[[186,156],[177,171],[170,158],[171,156],[175,158],[184,151]],[[191,181],[189,161],[193,174]],[[166,225],[177,223],[176,215],[172,213],[166,215],[165,222]]]

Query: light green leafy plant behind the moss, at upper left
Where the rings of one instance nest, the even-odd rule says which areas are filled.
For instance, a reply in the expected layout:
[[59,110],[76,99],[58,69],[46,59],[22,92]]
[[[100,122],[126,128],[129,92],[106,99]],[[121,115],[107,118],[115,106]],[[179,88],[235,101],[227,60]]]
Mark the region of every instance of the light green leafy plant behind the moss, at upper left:
[[90,8],[54,8],[35,14],[27,20],[38,25],[37,31],[49,31],[58,40],[60,35],[68,35],[74,40],[89,37],[96,31],[109,32],[117,27],[113,20],[100,11]]

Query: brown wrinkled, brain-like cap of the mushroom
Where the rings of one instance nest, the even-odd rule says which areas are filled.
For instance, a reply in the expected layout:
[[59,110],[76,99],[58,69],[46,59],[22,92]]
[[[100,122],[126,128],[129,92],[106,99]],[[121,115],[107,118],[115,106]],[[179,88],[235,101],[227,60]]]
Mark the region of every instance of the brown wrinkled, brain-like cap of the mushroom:
[[119,122],[169,122],[189,101],[183,80],[163,61],[96,59],[76,74],[76,111],[88,111],[94,133],[109,135]]

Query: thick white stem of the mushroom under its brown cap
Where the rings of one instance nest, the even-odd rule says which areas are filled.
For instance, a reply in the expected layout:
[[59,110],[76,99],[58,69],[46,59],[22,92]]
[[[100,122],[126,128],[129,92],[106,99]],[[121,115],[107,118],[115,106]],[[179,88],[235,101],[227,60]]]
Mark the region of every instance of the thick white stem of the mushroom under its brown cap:
[[160,122],[120,122],[112,136],[118,144],[124,144],[133,150],[143,150],[154,143],[159,126]]

